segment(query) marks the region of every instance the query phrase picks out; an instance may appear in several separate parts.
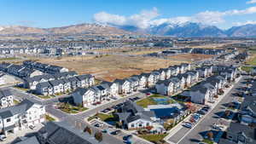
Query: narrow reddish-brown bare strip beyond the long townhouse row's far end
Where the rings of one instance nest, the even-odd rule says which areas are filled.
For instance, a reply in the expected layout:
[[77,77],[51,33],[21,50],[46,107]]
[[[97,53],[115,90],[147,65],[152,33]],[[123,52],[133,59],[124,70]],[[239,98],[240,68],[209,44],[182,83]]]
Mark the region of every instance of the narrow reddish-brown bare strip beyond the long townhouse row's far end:
[[212,58],[213,56],[216,55],[201,55],[201,54],[183,54],[183,55],[171,55],[168,56],[168,58],[173,59],[173,60],[204,60],[204,59],[209,59]]

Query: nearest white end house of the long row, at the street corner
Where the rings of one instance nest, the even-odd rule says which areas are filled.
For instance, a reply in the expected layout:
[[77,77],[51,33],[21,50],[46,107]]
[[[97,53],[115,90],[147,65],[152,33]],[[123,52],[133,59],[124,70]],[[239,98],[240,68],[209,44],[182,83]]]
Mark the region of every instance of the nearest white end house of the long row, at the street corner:
[[96,91],[95,89],[91,89],[91,88],[78,88],[76,89],[73,94],[73,102],[76,105],[80,105],[83,107],[88,107],[98,101],[100,101],[99,98],[97,98],[96,96]]

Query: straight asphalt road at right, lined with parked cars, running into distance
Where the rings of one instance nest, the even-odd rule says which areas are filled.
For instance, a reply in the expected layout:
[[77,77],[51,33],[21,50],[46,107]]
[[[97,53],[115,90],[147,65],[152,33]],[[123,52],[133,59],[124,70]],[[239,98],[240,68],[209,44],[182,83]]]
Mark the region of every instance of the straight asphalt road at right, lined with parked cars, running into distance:
[[234,100],[233,93],[236,92],[236,89],[241,87],[243,84],[241,82],[246,77],[242,77],[241,80],[234,85],[234,87],[230,90],[230,92],[225,95],[225,97],[219,101],[218,105],[212,109],[210,113],[208,113],[207,117],[203,118],[199,124],[195,125],[195,127],[190,130],[187,128],[182,128],[177,131],[175,135],[170,137],[169,141],[177,144],[190,144],[190,143],[198,143],[203,139],[202,132],[207,130],[211,130],[211,125],[214,123],[218,123],[218,113],[224,111],[224,104],[229,103]]

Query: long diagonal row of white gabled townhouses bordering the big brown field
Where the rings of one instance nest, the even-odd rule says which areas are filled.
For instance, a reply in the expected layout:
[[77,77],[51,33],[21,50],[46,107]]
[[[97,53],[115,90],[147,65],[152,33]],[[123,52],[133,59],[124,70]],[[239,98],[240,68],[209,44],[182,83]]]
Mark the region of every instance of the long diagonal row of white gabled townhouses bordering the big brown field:
[[72,96],[77,105],[87,107],[96,102],[101,102],[109,96],[130,94],[132,91],[154,87],[158,81],[171,78],[172,75],[177,76],[177,74],[187,72],[190,69],[190,64],[170,66],[153,72],[133,75],[130,78],[102,82],[102,84],[87,89],[77,89]]

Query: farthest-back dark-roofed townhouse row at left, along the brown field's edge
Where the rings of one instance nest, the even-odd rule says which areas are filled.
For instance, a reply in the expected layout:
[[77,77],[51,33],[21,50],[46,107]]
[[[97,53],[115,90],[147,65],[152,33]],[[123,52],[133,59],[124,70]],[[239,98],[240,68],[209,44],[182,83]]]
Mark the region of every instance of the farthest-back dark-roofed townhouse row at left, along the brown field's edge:
[[59,72],[68,72],[68,69],[65,67],[53,66],[53,65],[49,65],[49,64],[35,62],[32,60],[23,61],[23,66],[26,66],[26,67],[32,68],[32,69],[36,69],[40,72],[50,73],[50,74],[55,74],[55,73],[59,73]]

